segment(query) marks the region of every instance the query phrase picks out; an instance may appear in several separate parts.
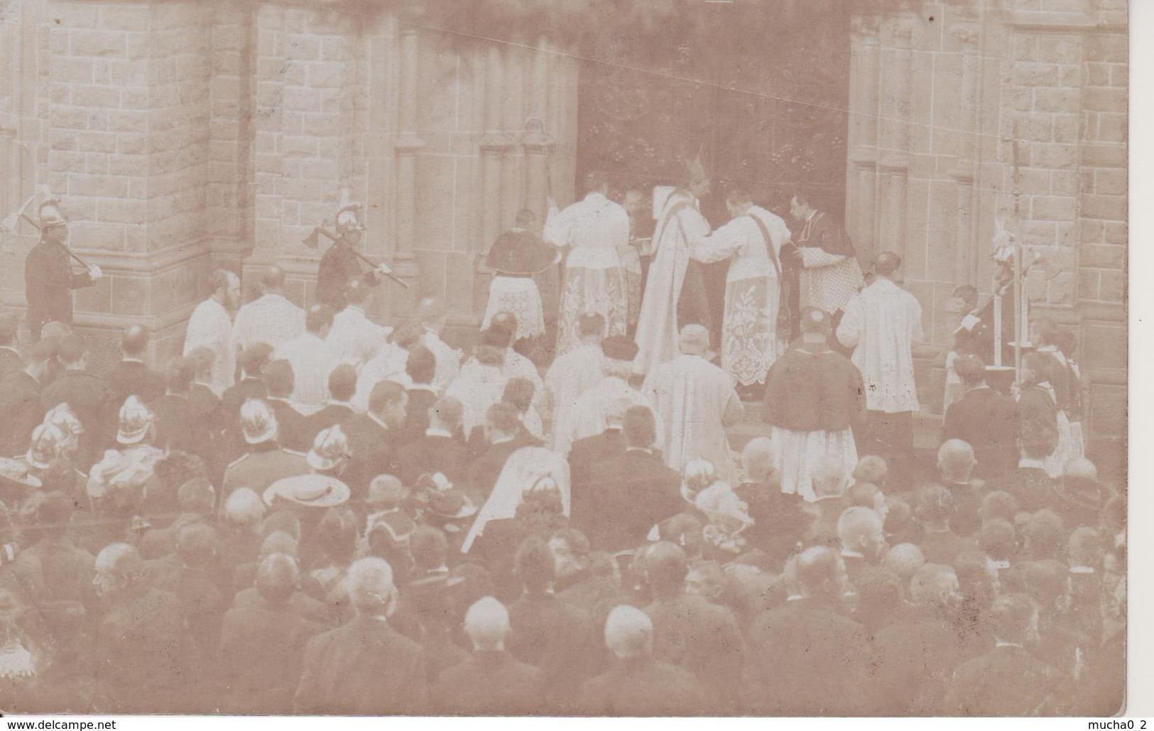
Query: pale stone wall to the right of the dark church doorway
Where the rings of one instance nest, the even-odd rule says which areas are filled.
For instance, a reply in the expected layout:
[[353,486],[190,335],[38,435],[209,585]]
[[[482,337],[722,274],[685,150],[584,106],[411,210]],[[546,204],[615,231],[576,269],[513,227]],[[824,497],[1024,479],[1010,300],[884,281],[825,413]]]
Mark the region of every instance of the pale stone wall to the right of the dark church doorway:
[[926,2],[859,17],[853,38],[847,227],[868,259],[904,255],[936,356],[917,364],[941,412],[958,284],[991,290],[995,222],[1044,261],[1032,315],[1074,329],[1093,381],[1092,453],[1124,465],[1125,5]]

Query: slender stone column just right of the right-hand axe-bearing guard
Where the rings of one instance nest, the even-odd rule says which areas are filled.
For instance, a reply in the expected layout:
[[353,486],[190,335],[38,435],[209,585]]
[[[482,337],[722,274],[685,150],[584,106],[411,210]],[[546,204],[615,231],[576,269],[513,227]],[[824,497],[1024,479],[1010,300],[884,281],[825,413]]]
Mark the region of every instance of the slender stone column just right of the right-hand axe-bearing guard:
[[[417,297],[421,276],[420,262],[413,254],[417,241],[417,154],[425,141],[417,134],[417,65],[420,58],[419,30],[400,24],[399,88],[397,94],[397,134],[392,149],[397,155],[397,247],[392,268],[398,277],[410,284],[409,300]],[[403,300],[404,298],[402,298]],[[398,304],[402,300],[398,301]],[[409,305],[412,305],[409,301]]]

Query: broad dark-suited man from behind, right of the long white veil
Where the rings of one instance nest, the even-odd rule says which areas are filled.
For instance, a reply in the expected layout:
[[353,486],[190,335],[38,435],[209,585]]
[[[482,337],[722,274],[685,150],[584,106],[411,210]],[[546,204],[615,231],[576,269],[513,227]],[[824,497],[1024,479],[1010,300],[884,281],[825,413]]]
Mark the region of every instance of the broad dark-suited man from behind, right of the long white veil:
[[[624,418],[625,454],[597,465],[571,498],[572,521],[598,551],[636,549],[650,529],[685,507],[681,476],[653,449],[657,422],[649,406]],[[606,520],[606,516],[614,516]]]

